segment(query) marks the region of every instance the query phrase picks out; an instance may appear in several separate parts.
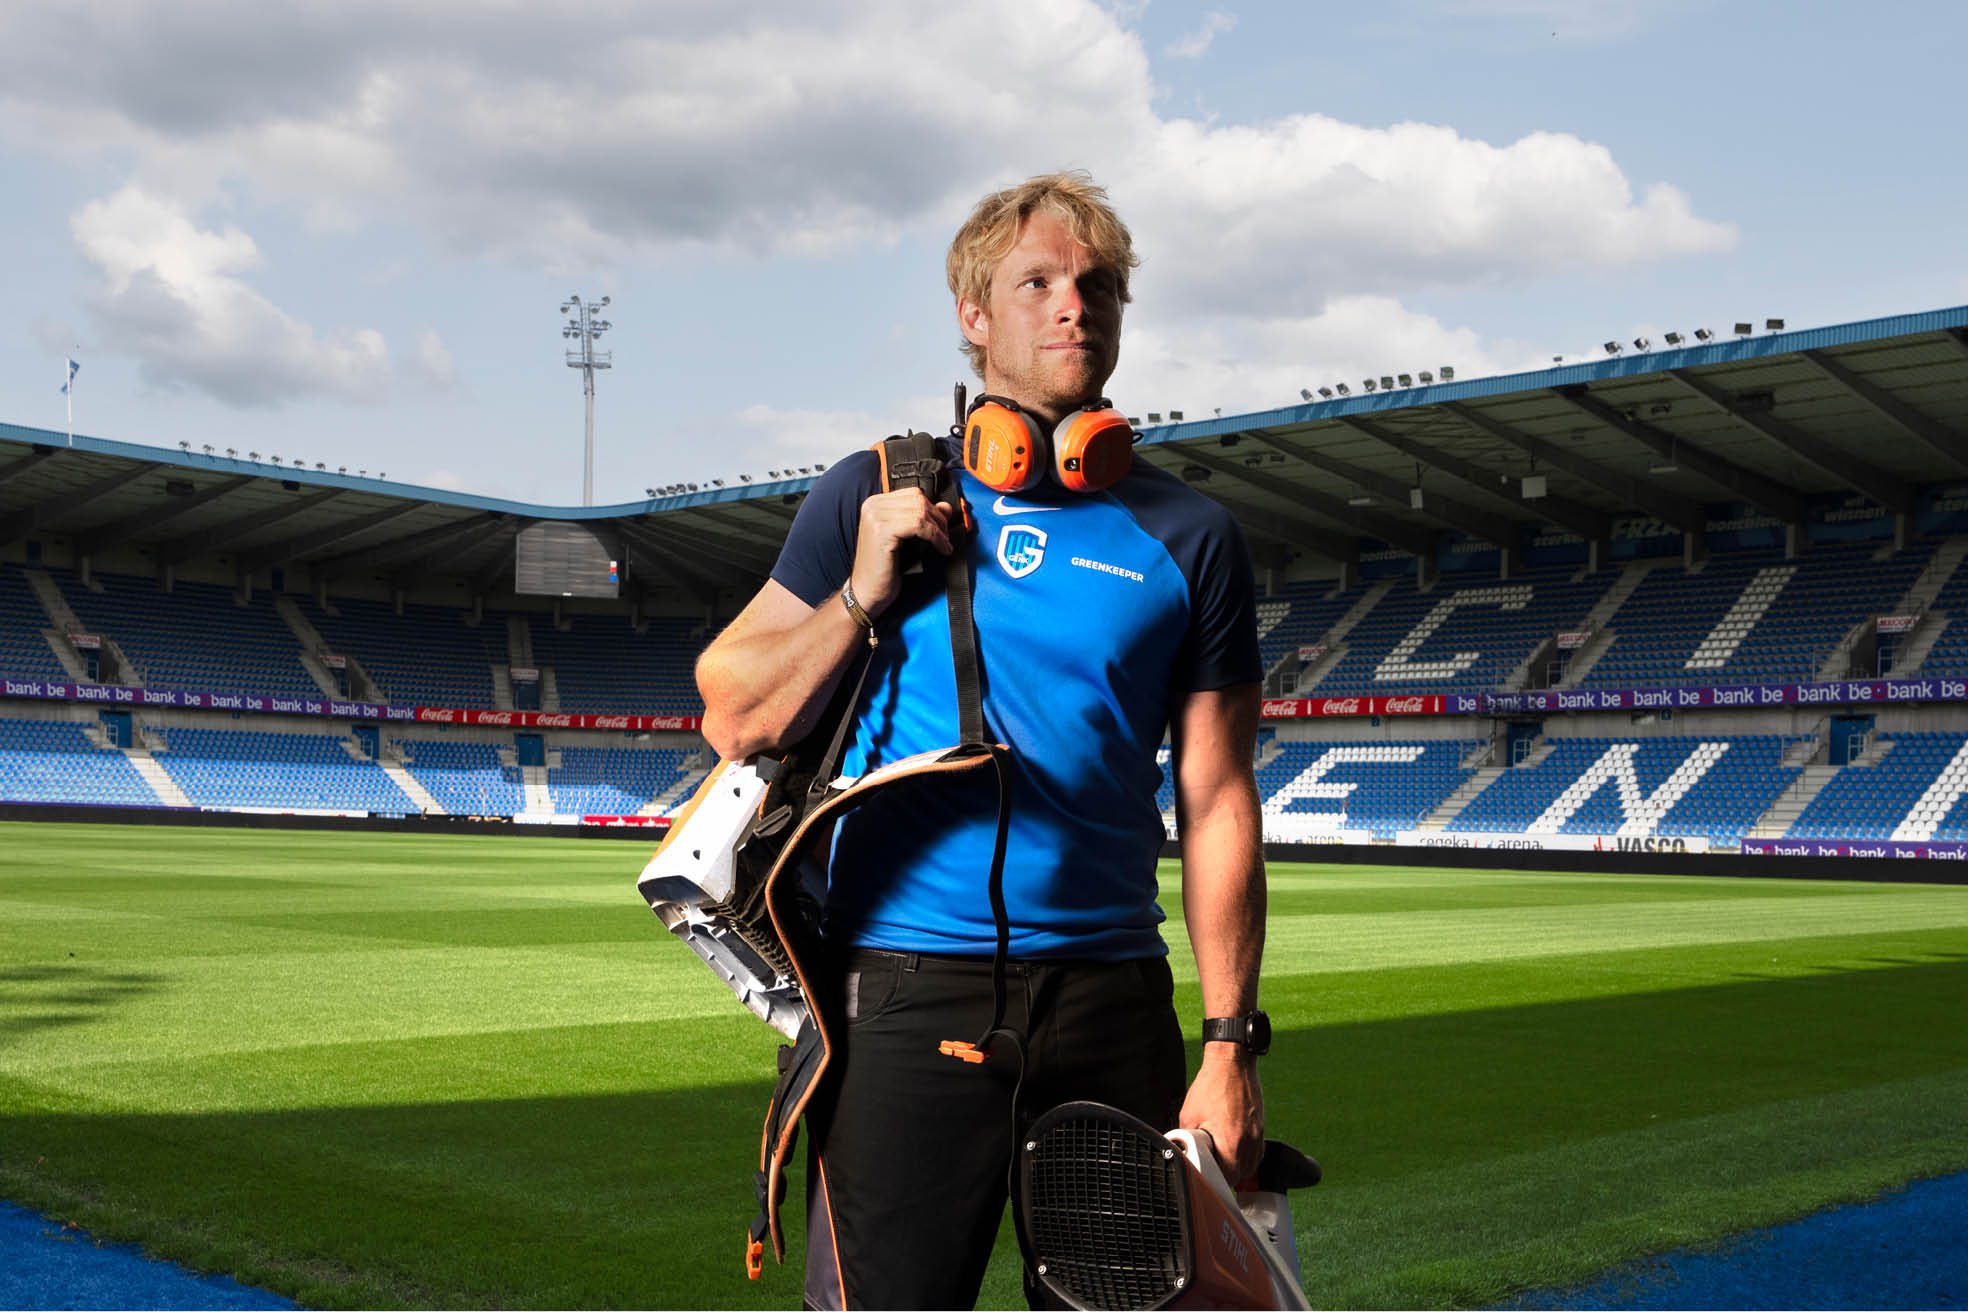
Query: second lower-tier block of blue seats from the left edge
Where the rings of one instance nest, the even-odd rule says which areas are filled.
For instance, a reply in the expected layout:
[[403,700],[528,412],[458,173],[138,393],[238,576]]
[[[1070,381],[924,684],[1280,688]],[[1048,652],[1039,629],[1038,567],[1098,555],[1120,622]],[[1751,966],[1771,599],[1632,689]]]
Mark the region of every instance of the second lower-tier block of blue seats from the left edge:
[[376,765],[329,734],[159,730],[163,771],[199,806],[276,806],[411,814],[417,806]]

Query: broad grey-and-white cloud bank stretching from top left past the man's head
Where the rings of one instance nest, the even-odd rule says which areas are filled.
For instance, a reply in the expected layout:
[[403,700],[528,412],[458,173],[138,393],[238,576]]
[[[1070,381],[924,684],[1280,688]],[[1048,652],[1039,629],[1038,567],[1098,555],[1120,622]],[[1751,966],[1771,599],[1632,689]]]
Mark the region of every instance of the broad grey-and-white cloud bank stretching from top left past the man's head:
[[[1230,22],[1212,10],[1179,45]],[[992,77],[953,94],[953,51],[982,45]],[[0,106],[37,140],[132,151],[171,195],[236,175],[317,224],[407,218],[525,268],[941,232],[988,185],[1063,165],[1108,179],[1185,258],[1230,220],[1218,264],[1252,283],[1307,248],[1378,271],[1334,289],[1384,289],[1726,240],[1671,187],[1635,201],[1604,148],[1563,134],[1165,118],[1139,35],[1090,0],[685,2],[659,20],[622,0],[581,24],[462,0],[12,6]]]

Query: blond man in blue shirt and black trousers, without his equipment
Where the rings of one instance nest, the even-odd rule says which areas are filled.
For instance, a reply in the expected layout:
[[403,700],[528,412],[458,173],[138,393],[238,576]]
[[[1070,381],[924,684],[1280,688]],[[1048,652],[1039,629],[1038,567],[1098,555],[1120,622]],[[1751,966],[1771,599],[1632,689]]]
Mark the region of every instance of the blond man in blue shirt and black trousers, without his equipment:
[[[984,391],[1047,427],[1096,401],[1136,264],[1082,173],[986,197],[949,258]],[[992,1017],[994,791],[923,787],[842,820],[825,934],[840,950],[829,1001],[846,1033],[809,1115],[807,1302],[970,1306],[1015,1125],[1045,1107],[1090,1098],[1206,1129],[1232,1178],[1261,1153],[1256,1044],[1204,1043],[1183,1094],[1155,905],[1167,732],[1204,1017],[1240,1033],[1263,946],[1250,561],[1220,506],[1145,460],[1094,494],[1045,482],[994,496],[964,474],[968,535],[951,504],[882,494],[878,478],[872,452],[827,472],[697,679],[724,757],[799,742],[862,653],[844,773],[954,744],[941,557],[968,555],[984,716],[1012,751],[1006,1019],[1025,1050],[964,1064],[937,1048]],[[925,568],[911,572],[915,559]]]

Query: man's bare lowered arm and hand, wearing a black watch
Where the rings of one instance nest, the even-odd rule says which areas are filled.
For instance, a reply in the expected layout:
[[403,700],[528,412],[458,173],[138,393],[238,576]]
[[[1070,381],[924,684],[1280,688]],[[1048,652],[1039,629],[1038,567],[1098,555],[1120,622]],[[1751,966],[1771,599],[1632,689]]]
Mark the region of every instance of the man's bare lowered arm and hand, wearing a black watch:
[[[1258,1005],[1263,960],[1263,846],[1252,765],[1258,685],[1187,694],[1171,730],[1183,919],[1197,954],[1202,1015],[1240,1017]],[[1258,1058],[1242,1044],[1204,1043],[1181,1127],[1208,1131],[1232,1184],[1254,1172],[1263,1157]]]

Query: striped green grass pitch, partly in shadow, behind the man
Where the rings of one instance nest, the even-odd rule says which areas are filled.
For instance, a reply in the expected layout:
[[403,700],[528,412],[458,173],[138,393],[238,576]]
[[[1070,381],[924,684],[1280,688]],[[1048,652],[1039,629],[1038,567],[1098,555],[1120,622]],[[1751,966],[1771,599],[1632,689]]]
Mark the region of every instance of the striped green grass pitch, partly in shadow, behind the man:
[[[646,854],[0,824],[0,1196],[323,1306],[797,1306],[797,1235],[740,1265],[777,1039]],[[1263,1001],[1322,1306],[1968,1168],[1968,887],[1273,865]]]

